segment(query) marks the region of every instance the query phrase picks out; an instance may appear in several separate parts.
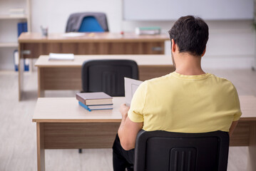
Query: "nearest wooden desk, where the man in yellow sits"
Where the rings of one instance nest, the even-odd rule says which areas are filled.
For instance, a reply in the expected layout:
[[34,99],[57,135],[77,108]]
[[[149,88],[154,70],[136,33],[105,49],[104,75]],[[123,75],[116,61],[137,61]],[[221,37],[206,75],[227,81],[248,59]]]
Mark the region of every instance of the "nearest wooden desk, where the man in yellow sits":
[[[36,122],[38,170],[44,170],[45,149],[112,147],[121,122],[119,105],[124,98],[113,98],[113,110],[88,112],[75,98],[39,98],[33,115]],[[247,170],[256,170],[256,98],[240,96],[242,117],[230,138],[232,146],[248,147]]]

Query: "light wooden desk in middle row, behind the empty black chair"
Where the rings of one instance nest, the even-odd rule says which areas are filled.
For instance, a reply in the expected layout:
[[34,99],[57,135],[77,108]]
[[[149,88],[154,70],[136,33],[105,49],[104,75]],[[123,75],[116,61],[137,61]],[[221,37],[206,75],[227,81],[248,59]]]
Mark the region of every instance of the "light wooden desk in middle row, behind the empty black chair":
[[165,55],[88,55],[75,56],[74,61],[48,61],[48,56],[40,56],[38,67],[38,96],[44,90],[82,90],[81,66],[89,59],[131,59],[138,63],[139,79],[164,76],[175,71],[171,56]]

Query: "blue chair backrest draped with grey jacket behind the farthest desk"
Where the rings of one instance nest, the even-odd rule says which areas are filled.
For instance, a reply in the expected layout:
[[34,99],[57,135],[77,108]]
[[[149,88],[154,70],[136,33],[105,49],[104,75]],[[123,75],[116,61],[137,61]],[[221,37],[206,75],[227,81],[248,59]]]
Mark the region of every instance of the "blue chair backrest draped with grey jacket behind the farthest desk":
[[106,14],[101,12],[74,13],[68,17],[66,32],[108,31]]

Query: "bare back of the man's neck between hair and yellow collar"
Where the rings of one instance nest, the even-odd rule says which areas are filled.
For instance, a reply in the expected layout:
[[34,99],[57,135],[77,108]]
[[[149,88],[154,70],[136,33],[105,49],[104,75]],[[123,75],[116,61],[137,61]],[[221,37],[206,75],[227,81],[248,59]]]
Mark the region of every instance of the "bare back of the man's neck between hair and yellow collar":
[[201,57],[192,56],[189,53],[179,53],[175,60],[176,73],[187,76],[201,75],[205,72],[201,68]]

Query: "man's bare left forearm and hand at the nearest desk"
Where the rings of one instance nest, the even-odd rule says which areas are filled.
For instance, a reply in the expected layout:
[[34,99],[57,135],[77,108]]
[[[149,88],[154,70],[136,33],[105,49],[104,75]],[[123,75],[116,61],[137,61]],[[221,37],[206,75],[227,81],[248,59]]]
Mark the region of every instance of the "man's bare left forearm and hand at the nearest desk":
[[143,123],[134,123],[128,118],[129,109],[126,104],[120,106],[122,121],[118,129],[118,136],[124,150],[131,150],[135,147],[137,134],[143,128]]

